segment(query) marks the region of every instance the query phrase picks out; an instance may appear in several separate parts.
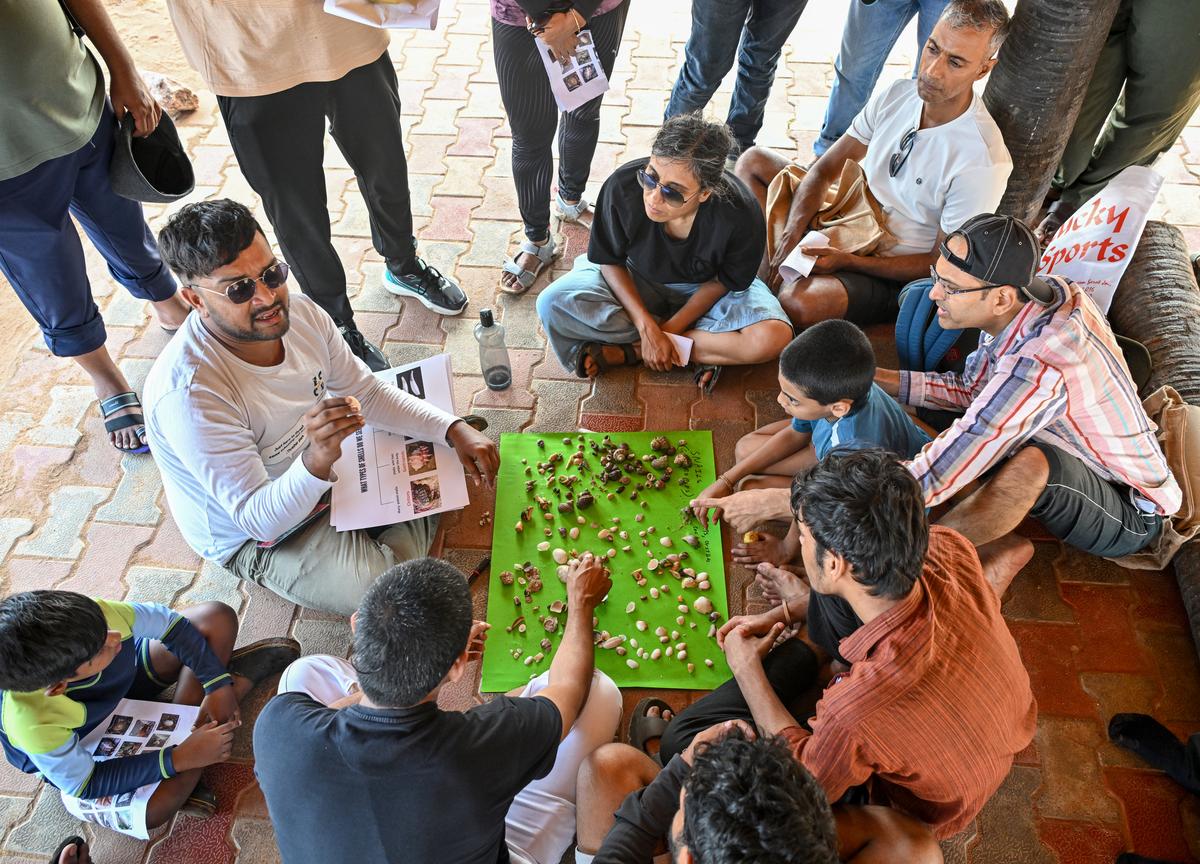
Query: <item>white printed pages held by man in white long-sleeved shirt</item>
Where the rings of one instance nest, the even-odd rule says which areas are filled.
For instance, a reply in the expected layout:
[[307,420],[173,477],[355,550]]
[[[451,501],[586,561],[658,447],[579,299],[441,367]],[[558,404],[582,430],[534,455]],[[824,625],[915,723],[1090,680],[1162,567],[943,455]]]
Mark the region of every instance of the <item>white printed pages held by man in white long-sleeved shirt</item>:
[[[410,396],[454,413],[450,355],[376,373]],[[467,506],[467,478],[445,443],[367,425],[342,442],[334,464],[331,522],[337,530],[376,528]]]

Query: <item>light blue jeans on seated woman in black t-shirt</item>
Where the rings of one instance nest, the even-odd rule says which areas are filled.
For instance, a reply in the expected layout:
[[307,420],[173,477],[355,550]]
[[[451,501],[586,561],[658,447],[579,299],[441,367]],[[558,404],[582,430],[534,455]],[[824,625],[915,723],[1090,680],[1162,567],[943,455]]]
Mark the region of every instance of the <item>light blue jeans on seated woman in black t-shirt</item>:
[[[630,274],[646,308],[659,319],[683,308],[700,288],[700,283],[695,282],[656,284],[632,269]],[[576,371],[580,348],[587,342],[632,344],[638,340],[632,318],[605,282],[600,265],[589,262],[587,256],[576,258],[569,274],[538,295],[538,317],[554,356],[569,371]],[[775,295],[762,280],[755,278],[745,290],[721,296],[692,324],[692,329],[732,332],[762,320],[781,320],[791,325]]]

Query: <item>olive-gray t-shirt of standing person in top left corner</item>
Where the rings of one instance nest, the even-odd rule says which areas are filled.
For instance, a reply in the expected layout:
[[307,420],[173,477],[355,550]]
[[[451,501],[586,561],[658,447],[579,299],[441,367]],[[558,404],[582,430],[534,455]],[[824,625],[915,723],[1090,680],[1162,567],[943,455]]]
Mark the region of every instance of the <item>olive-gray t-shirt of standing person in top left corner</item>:
[[58,0],[0,0],[0,180],[82,148],[103,104],[100,65]]

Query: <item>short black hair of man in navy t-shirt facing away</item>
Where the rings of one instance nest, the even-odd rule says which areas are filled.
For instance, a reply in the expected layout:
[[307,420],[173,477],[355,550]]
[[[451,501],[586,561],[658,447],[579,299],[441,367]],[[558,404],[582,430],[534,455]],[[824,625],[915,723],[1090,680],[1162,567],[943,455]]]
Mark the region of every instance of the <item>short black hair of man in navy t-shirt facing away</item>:
[[407,560],[367,588],[354,630],[354,668],[378,706],[407,708],[438,685],[470,637],[467,577],[437,558]]

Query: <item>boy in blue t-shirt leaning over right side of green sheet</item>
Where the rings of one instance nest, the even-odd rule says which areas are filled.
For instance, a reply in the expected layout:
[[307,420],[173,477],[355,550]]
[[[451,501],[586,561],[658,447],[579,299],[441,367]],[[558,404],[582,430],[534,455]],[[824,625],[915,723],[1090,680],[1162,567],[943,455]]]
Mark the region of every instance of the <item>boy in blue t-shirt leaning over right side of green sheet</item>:
[[[797,473],[834,448],[883,448],[912,458],[930,438],[875,380],[875,352],[847,320],[810,326],[779,356],[779,404],[788,419],[743,436],[736,464],[697,496],[724,498],[742,488],[788,487]],[[707,508],[695,504],[707,521]],[[716,510],[714,520],[720,518]],[[796,524],[782,540],[754,532],[733,547],[734,563],[784,564],[799,553]]]

